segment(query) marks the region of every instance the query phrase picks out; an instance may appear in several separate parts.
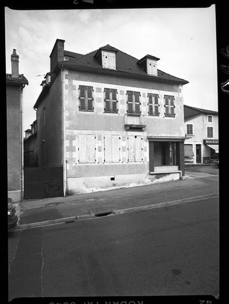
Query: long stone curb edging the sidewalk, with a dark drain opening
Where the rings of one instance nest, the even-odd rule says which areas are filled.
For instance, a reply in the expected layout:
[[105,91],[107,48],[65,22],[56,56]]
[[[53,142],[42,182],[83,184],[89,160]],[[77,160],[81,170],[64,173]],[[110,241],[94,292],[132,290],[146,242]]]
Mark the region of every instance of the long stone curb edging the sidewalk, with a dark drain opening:
[[207,194],[192,198],[186,198],[186,199],[179,199],[174,201],[168,201],[163,203],[157,203],[157,204],[151,204],[146,206],[139,206],[139,207],[132,207],[132,208],[126,208],[126,209],[119,209],[119,210],[112,210],[112,211],[106,211],[106,212],[99,212],[99,213],[91,213],[91,214],[85,214],[85,215],[77,215],[77,216],[71,216],[71,217],[64,217],[64,218],[58,218],[58,219],[51,219],[41,222],[35,222],[30,224],[19,224],[16,228],[16,230],[22,230],[22,229],[28,229],[32,227],[39,227],[39,226],[45,226],[45,225],[51,225],[51,224],[57,224],[57,223],[71,223],[75,222],[80,219],[89,219],[89,218],[96,218],[96,217],[102,217],[110,214],[123,214],[123,213],[129,213],[133,211],[140,211],[140,210],[147,210],[147,209],[154,209],[154,208],[162,208],[167,206],[173,206],[178,205],[182,203],[188,203],[188,202],[194,202],[198,200],[204,200],[208,198],[218,197],[219,193],[213,193],[213,194]]

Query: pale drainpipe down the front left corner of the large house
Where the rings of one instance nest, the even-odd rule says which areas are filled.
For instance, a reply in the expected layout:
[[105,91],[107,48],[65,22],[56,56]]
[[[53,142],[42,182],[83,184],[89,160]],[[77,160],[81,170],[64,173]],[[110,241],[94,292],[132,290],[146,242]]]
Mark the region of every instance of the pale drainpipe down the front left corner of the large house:
[[64,102],[64,68],[61,65],[61,90],[62,90],[62,164],[63,164],[63,194],[67,196],[67,160],[65,147],[65,102]]

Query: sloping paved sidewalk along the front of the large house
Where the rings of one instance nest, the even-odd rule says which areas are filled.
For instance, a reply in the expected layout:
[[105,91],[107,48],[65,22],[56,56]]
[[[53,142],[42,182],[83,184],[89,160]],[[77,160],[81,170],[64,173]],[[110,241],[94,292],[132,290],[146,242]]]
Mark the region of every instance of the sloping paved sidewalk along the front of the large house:
[[[106,213],[123,213],[128,211],[126,209],[133,211],[162,207],[218,194],[217,175],[203,172],[189,173],[190,175],[186,172],[189,176],[184,180],[118,188],[69,197],[25,200],[21,204],[18,229],[35,226],[34,223],[43,225]],[[206,178],[208,178],[207,182]]]

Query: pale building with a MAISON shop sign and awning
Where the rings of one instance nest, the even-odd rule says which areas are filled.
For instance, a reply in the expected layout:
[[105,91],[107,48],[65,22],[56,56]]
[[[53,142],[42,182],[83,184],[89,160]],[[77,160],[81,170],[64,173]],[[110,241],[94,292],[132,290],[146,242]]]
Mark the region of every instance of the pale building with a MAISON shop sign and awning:
[[186,164],[210,163],[218,160],[218,112],[184,105]]

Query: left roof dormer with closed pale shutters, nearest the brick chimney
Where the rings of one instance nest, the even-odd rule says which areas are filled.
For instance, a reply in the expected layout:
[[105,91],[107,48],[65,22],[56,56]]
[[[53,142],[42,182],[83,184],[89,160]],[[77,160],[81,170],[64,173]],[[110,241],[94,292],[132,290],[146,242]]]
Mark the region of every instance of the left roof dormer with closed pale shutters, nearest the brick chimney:
[[109,45],[102,47],[95,54],[95,58],[99,61],[103,68],[116,69],[116,50],[111,49]]

